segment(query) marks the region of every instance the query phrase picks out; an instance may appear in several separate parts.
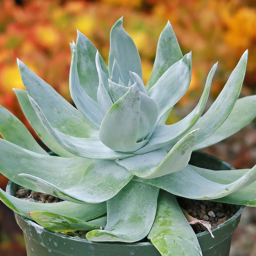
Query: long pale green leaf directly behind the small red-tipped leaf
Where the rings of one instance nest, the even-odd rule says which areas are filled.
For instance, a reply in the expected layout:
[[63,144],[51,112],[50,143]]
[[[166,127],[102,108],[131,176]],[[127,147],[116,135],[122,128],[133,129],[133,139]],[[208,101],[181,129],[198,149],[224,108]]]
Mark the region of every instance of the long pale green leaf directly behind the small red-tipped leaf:
[[98,218],[107,212],[106,202],[100,204],[75,204],[63,201],[54,204],[39,204],[11,196],[1,188],[0,200],[14,212],[17,212],[31,220],[32,218],[28,215],[28,212],[34,211],[50,211],[61,215],[65,214],[67,217],[84,221]]

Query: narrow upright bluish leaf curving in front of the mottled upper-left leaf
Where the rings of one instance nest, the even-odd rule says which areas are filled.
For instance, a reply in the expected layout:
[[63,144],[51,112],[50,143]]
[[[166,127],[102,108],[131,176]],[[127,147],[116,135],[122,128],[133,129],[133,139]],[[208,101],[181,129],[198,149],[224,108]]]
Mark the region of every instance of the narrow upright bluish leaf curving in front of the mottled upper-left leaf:
[[[79,82],[78,70],[77,70],[77,52],[76,44],[73,42],[72,46],[72,59],[69,72],[69,91],[72,100],[76,104],[77,109],[88,118],[88,120],[95,126],[100,127],[100,123],[103,119],[100,107],[98,103],[92,100],[83,90]],[[95,62],[95,59],[94,59]],[[96,67],[95,67],[96,68]],[[97,69],[96,69],[97,71]],[[98,79],[98,76],[97,76]],[[98,79],[99,82],[99,79]],[[97,84],[99,85],[99,83]],[[91,85],[91,87],[93,87]],[[98,89],[98,87],[97,87]]]

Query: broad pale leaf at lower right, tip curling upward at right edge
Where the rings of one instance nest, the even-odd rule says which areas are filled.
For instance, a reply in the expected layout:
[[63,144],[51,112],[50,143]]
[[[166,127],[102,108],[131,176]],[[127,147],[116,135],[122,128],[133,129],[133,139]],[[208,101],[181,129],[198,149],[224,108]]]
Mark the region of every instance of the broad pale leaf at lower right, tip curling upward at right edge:
[[134,176],[134,180],[162,188],[176,196],[190,199],[216,199],[227,196],[245,188],[256,180],[256,165],[239,179],[229,184],[220,184],[205,179],[195,171],[195,166],[186,166],[180,172],[172,172],[165,176],[145,180]]

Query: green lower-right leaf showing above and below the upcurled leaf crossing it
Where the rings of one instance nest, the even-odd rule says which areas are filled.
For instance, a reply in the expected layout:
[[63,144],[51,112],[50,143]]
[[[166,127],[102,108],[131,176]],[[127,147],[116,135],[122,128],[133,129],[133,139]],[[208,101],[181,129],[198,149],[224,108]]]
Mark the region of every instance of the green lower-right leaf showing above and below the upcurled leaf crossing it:
[[[195,171],[204,178],[221,184],[229,184],[235,180],[238,180],[249,170],[250,169],[213,171],[203,168],[195,168]],[[256,206],[256,182],[253,182],[249,186],[233,192],[228,196],[214,199],[214,201],[227,204]]]

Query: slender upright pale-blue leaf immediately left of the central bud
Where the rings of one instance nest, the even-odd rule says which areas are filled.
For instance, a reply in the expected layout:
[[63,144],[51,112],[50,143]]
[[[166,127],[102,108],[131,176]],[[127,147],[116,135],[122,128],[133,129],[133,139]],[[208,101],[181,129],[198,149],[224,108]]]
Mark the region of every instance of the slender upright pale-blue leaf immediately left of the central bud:
[[108,109],[111,108],[113,102],[108,94],[108,77],[104,73],[100,65],[100,53],[97,51],[96,57],[96,68],[99,76],[99,87],[97,91],[97,99],[103,116],[106,115]]

